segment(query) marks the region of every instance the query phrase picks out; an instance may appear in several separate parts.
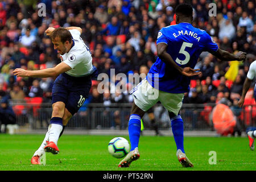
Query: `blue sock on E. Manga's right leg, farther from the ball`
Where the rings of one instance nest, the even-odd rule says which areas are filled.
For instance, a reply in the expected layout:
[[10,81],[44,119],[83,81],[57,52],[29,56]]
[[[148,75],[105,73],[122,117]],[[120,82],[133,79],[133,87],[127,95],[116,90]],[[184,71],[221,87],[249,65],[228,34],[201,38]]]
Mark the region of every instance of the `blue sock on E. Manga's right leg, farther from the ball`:
[[174,140],[177,146],[177,150],[184,151],[184,137],[183,137],[183,120],[180,115],[171,118],[172,133],[174,134]]

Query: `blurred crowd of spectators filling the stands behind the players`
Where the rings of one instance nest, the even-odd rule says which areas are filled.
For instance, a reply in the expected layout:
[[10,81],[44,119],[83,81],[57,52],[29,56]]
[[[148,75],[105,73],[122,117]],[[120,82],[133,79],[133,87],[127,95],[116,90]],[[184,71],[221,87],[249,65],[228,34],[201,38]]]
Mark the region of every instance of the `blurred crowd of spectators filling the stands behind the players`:
[[[60,63],[48,27],[82,28],[81,38],[90,48],[93,65],[99,73],[147,73],[156,60],[156,38],[162,27],[175,24],[174,9],[184,0],[57,0],[0,2],[0,97],[11,100],[42,97],[50,102],[55,78],[15,77],[15,68],[44,69]],[[209,16],[210,3],[216,3],[216,16]],[[39,16],[39,3],[46,5],[46,16]],[[255,60],[255,1],[192,0],[193,26],[208,32],[222,49],[247,53],[244,63],[225,62],[210,53],[201,54],[196,68],[203,74],[192,78],[191,91],[184,103],[217,103],[227,98],[234,105],[241,97],[249,65]],[[132,102],[118,90],[110,92],[118,81],[110,78],[110,88],[98,93],[93,81],[91,96],[85,104]],[[133,82],[127,82],[128,91]],[[109,91],[110,93],[108,93]]]

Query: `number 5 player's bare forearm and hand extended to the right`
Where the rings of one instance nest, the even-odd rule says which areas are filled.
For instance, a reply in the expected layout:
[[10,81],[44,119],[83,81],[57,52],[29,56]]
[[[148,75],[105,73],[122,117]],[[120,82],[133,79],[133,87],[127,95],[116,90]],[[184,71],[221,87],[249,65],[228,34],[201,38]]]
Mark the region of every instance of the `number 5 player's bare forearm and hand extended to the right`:
[[229,53],[228,51],[224,51],[220,48],[212,55],[216,56],[218,59],[222,61],[245,61],[246,59],[246,53],[239,51],[236,55],[233,55],[232,53]]

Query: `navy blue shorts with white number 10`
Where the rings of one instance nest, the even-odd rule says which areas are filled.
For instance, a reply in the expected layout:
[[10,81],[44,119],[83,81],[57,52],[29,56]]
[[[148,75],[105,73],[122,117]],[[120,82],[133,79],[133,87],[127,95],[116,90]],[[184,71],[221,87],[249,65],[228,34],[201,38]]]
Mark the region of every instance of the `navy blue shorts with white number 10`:
[[64,102],[68,111],[74,115],[89,96],[92,76],[72,77],[61,73],[52,86],[52,104]]

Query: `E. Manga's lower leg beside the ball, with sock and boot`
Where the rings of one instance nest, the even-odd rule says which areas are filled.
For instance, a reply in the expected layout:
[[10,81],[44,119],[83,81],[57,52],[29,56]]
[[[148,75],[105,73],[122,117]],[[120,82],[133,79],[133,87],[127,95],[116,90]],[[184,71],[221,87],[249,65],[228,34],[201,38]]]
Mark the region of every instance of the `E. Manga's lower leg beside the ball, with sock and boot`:
[[141,110],[135,103],[133,102],[133,107],[131,108],[131,116],[129,120],[129,137],[131,143],[131,151],[121,160],[118,164],[118,167],[129,167],[131,162],[139,159],[139,150],[138,150],[138,142],[139,142],[139,134],[141,132],[141,118],[144,115],[144,111]]

